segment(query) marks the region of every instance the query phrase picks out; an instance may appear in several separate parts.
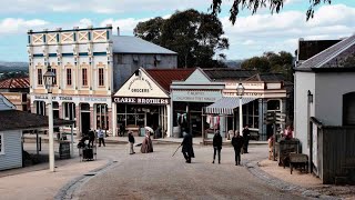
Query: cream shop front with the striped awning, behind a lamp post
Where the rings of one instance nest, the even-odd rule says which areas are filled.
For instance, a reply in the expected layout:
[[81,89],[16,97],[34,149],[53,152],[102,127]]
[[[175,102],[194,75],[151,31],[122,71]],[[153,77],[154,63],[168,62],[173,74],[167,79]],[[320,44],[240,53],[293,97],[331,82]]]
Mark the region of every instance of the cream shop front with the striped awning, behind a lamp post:
[[[242,97],[236,92],[240,82],[245,89]],[[207,116],[225,116],[227,121],[223,126],[226,127],[226,130],[239,130],[239,101],[241,98],[243,127],[247,124],[255,139],[265,141],[273,134],[272,124],[264,123],[264,116],[267,112],[285,113],[286,90],[282,82],[227,81],[222,94],[222,99],[205,108],[205,113]],[[284,128],[284,124],[282,123],[281,127]]]

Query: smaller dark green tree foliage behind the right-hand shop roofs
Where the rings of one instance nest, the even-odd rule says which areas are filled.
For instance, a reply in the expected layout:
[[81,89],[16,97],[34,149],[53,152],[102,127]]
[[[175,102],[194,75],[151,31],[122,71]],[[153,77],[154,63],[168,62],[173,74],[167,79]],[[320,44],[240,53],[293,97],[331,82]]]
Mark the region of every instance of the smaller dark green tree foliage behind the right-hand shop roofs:
[[293,60],[290,52],[268,51],[262,57],[253,57],[242,62],[242,69],[255,69],[258,72],[283,73],[286,80],[293,81]]

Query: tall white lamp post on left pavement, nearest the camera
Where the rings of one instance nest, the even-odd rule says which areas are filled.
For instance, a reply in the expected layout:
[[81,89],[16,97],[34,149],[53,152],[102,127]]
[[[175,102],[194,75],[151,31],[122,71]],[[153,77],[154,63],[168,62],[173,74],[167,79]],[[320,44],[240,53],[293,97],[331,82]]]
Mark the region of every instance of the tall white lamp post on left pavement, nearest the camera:
[[45,89],[48,91],[48,129],[49,129],[49,170],[54,172],[54,141],[53,141],[53,104],[52,89],[55,79],[55,73],[48,66],[48,71],[43,74]]

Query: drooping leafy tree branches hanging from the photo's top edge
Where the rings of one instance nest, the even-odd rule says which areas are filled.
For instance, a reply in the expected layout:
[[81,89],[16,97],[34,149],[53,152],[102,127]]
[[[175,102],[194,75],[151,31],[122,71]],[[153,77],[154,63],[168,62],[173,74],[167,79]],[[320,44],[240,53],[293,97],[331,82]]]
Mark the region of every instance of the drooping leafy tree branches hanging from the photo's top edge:
[[[258,9],[270,8],[271,12],[278,13],[283,8],[286,0],[233,0],[233,4],[230,9],[230,21],[234,24],[240,10],[248,9],[252,10],[252,14],[256,13]],[[306,11],[306,19],[314,17],[314,9],[321,3],[332,3],[332,0],[310,0],[310,7]],[[222,0],[212,0],[211,10],[212,14],[217,14],[221,12]]]

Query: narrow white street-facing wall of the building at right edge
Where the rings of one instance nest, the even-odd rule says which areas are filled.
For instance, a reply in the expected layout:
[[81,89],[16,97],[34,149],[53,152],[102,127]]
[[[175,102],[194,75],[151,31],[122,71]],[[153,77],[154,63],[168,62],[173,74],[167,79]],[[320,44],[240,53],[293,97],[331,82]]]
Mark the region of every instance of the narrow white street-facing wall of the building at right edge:
[[[307,144],[307,91],[315,93],[315,73],[313,72],[295,72],[295,119],[294,132],[295,138],[300,139],[302,152],[308,154]],[[314,116],[314,101],[311,104],[310,116]]]

